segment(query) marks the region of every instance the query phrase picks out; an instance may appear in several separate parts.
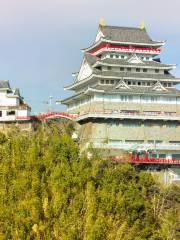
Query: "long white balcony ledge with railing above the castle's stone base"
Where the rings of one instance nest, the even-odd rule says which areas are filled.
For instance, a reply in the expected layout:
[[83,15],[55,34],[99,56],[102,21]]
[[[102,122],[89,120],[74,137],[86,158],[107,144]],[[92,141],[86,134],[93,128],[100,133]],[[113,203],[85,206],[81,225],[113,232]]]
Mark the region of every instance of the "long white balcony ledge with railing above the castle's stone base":
[[81,121],[87,118],[180,121],[180,115],[176,113],[115,110],[83,112],[77,116],[76,120]]

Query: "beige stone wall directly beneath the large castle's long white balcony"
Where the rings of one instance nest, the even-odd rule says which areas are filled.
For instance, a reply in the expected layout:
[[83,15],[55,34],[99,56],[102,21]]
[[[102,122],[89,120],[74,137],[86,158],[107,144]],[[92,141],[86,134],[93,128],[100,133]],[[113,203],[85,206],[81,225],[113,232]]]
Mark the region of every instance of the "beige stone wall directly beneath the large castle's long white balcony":
[[[91,139],[91,141],[103,142],[107,139],[112,140],[143,140],[147,141],[180,141],[180,123],[168,121],[124,121],[124,120],[107,120],[83,123],[81,126],[84,133],[82,139]],[[83,140],[83,141],[84,141]]]

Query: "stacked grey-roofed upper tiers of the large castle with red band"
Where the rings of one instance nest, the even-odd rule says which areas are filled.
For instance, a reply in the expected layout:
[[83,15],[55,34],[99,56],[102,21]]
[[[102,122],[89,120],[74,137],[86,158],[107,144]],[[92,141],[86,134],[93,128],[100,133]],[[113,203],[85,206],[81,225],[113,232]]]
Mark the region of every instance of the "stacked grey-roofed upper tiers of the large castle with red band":
[[[145,28],[99,26],[95,42],[83,50],[73,84],[65,87],[77,94],[62,102],[73,101],[87,91],[180,95],[175,88],[180,79],[169,72],[176,65],[156,58],[162,45],[164,42],[152,40]],[[109,82],[103,84],[106,80]]]

